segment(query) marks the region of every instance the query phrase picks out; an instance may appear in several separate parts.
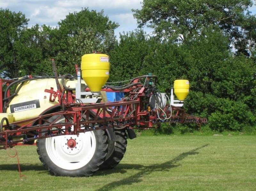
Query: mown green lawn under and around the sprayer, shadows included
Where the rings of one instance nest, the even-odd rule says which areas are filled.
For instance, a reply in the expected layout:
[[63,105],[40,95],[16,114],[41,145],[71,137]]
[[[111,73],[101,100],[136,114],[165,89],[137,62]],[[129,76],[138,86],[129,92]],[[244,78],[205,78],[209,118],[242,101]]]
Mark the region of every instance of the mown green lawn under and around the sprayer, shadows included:
[[256,136],[139,136],[120,164],[92,177],[55,177],[36,146],[0,150],[0,190],[256,190]]

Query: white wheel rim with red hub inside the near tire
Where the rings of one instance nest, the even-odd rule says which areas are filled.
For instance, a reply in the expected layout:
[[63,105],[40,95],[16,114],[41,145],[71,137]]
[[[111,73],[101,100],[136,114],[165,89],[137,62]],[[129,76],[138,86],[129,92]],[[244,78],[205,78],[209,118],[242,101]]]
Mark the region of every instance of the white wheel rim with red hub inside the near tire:
[[45,148],[55,165],[62,169],[75,170],[82,168],[92,159],[96,150],[96,138],[93,131],[80,133],[79,136],[49,137],[45,139]]

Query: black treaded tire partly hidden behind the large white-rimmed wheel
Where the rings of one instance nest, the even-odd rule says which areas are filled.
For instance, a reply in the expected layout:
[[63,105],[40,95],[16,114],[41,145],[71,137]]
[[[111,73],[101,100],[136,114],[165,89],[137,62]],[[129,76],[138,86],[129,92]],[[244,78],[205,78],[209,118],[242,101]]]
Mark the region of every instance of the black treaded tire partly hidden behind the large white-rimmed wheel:
[[117,141],[108,140],[108,155],[103,164],[100,165],[100,170],[112,169],[124,157],[127,146],[127,134],[125,129],[115,130]]

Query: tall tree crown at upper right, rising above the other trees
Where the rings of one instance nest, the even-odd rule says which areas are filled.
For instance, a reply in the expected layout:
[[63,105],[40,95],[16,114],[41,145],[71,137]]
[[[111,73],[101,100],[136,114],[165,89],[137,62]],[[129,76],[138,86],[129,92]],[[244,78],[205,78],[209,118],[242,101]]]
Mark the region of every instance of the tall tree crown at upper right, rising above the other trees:
[[255,35],[250,6],[251,0],[144,0],[141,10],[132,11],[139,27],[153,28],[161,39],[187,42],[216,26],[239,46]]

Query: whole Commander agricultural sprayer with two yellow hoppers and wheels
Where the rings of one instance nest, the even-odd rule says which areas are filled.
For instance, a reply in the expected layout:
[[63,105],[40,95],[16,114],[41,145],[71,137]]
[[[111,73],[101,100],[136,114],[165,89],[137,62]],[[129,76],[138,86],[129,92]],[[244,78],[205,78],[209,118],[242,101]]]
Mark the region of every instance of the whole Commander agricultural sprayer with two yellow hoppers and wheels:
[[[127,137],[136,137],[134,128],[206,122],[180,108],[188,95],[188,80],[174,81],[174,100],[173,90],[170,98],[157,90],[152,74],[121,87],[106,85],[105,54],[85,54],[76,78],[59,78],[54,60],[52,66],[54,76],[0,79],[0,149],[36,142],[40,161],[54,175],[90,176],[98,169],[114,168],[124,156]],[[125,96],[107,102],[106,92]]]

